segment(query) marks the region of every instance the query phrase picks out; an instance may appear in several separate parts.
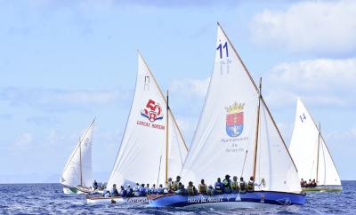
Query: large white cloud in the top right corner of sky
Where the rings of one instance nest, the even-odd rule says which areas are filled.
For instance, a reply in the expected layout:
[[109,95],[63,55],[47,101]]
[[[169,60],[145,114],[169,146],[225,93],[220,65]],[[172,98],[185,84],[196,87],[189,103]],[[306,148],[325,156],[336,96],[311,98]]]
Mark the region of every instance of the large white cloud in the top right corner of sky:
[[292,52],[347,53],[356,49],[356,1],[304,1],[285,11],[264,10],[250,29],[257,44]]

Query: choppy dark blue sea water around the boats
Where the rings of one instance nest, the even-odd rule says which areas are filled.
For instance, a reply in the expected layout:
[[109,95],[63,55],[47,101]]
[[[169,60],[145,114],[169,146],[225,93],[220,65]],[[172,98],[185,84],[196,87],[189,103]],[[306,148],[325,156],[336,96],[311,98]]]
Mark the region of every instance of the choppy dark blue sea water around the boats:
[[303,206],[271,209],[187,210],[150,208],[145,204],[88,204],[84,195],[64,195],[60,184],[0,185],[0,214],[356,214],[356,181],[343,181],[336,193],[308,193]]

